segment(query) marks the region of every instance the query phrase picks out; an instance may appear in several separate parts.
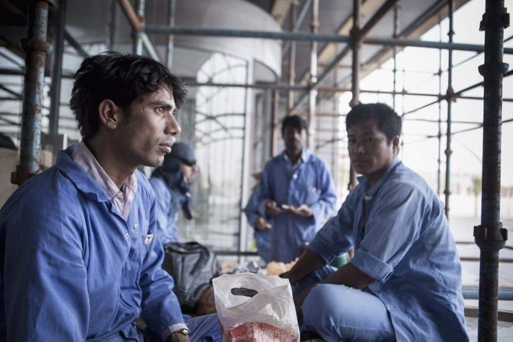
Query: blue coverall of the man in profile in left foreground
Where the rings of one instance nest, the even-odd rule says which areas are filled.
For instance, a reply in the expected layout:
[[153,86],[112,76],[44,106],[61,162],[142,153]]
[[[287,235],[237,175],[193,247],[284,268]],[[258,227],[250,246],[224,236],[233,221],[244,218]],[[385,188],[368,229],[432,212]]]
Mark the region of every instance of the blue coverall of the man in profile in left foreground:
[[[136,171],[125,220],[73,149],[0,210],[0,341],[142,341],[141,315],[155,336],[187,323],[161,268],[148,180]],[[220,337],[219,325],[208,328]]]

